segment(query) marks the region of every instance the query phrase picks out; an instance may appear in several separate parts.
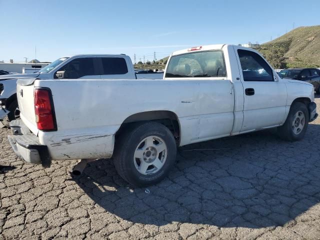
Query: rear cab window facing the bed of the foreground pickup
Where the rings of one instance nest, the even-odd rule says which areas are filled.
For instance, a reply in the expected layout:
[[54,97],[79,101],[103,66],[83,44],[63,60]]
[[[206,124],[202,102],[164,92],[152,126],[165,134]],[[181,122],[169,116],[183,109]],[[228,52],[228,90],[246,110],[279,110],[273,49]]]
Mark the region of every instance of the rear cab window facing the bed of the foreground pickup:
[[188,52],[171,56],[165,77],[225,77],[222,50]]

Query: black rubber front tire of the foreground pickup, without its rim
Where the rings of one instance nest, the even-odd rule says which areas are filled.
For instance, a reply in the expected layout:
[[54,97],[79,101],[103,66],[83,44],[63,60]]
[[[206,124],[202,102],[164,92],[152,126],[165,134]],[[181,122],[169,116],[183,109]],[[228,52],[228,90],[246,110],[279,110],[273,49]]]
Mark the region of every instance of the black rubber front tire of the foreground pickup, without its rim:
[[[297,134],[293,130],[293,120],[295,119],[295,114],[301,111],[304,114],[304,126]],[[294,102],[289,110],[288,116],[282,126],[277,128],[277,132],[280,138],[288,141],[298,141],[301,140],[305,134],[309,122],[309,112],[306,105],[302,102]]]

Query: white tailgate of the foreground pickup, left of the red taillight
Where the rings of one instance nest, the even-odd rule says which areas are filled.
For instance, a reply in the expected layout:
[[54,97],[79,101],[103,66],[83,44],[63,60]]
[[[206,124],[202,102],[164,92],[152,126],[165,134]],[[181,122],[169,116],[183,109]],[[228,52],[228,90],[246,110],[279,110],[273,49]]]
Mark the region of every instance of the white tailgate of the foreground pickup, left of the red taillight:
[[35,78],[18,79],[16,82],[16,96],[22,121],[35,135],[37,135],[38,129],[35,121],[33,99],[34,80]]

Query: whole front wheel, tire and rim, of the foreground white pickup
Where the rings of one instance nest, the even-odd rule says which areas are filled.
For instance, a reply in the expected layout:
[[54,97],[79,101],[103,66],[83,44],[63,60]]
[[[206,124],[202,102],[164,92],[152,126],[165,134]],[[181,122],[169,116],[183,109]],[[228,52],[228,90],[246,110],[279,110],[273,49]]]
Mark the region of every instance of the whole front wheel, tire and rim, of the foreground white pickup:
[[282,126],[277,128],[278,135],[288,141],[301,140],[305,134],[309,122],[309,114],[306,105],[302,102],[294,102],[288,116]]

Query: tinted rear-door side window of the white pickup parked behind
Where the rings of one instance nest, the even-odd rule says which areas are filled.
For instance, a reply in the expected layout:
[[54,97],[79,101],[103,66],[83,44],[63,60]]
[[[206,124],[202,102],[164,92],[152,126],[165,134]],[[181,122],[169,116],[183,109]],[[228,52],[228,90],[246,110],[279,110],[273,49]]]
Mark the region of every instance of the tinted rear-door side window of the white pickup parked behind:
[[103,72],[101,75],[125,74],[128,68],[122,57],[101,57]]

